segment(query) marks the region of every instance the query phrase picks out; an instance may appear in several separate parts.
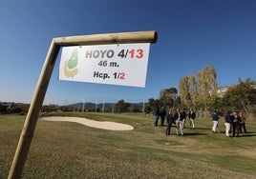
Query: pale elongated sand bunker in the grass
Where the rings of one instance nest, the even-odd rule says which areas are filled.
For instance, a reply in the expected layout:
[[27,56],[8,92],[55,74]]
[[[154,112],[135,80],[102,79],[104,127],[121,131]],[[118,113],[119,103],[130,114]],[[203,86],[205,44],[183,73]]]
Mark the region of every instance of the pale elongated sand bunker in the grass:
[[44,121],[68,121],[75,122],[88,127],[97,129],[111,129],[111,130],[132,130],[134,127],[126,124],[107,122],[107,121],[95,121],[91,119],[81,118],[81,117],[41,117],[40,120]]

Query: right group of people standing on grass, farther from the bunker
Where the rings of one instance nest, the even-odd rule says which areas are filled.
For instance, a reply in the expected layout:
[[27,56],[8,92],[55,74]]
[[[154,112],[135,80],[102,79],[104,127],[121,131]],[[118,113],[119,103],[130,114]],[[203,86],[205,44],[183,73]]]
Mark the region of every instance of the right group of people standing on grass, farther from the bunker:
[[[213,111],[212,113],[212,132],[220,132],[218,129],[218,122],[219,122],[219,115],[216,111]],[[247,133],[247,130],[245,128],[245,115],[242,111],[227,111],[224,114],[224,126],[225,126],[225,136],[226,137],[235,137],[239,136],[239,133],[242,133],[242,129],[244,129],[244,132]]]

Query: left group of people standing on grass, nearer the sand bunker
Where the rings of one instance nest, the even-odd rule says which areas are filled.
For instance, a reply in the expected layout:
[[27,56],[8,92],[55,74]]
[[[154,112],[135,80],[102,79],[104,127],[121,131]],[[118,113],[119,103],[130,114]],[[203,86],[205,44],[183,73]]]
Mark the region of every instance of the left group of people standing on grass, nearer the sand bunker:
[[[185,109],[181,111],[181,109],[178,108],[176,109],[175,112],[173,112],[172,109],[169,109],[169,111],[166,112],[166,110],[163,107],[161,107],[161,108],[157,108],[154,113],[155,113],[155,121],[154,121],[155,126],[158,126],[159,119],[160,119],[160,125],[163,126],[164,119],[166,118],[166,124],[167,124],[166,130],[165,130],[166,135],[171,134],[172,124],[174,124],[174,126],[176,127],[177,135],[183,135],[183,129],[185,128],[185,121],[187,118],[187,113]],[[188,119],[190,122],[190,127],[192,129],[195,129],[196,112],[193,109],[189,110]]]

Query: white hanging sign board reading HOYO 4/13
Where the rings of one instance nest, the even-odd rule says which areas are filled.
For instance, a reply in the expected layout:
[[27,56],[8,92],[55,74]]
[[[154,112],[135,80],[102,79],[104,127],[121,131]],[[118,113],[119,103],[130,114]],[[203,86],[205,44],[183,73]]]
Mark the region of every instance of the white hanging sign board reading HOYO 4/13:
[[145,87],[149,43],[62,48],[59,79]]

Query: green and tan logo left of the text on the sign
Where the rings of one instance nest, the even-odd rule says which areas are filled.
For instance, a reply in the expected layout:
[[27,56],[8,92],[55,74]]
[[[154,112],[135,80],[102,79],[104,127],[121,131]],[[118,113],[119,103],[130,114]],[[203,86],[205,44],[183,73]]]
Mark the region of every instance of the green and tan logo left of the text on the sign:
[[78,70],[76,66],[78,64],[78,50],[73,50],[72,55],[69,60],[65,61],[64,64],[64,73],[67,78],[74,78],[75,74],[77,74]]

